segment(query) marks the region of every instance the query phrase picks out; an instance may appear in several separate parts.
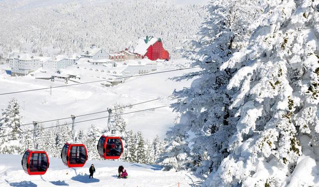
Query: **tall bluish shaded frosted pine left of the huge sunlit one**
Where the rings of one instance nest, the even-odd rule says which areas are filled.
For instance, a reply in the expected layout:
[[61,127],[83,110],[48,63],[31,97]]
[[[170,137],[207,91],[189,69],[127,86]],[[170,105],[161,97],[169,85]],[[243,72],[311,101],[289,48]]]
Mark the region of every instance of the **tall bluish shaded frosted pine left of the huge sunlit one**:
[[219,66],[247,46],[261,9],[259,0],[211,0],[207,5],[209,16],[194,39],[187,42],[189,50],[183,55],[202,70],[184,76],[199,76],[190,88],[173,93],[178,102],[172,106],[182,115],[168,137],[171,141],[190,138],[192,166],[197,174],[216,171],[229,154],[228,144],[236,131],[232,124],[237,120],[229,111],[234,91],[226,89],[232,70],[221,71]]

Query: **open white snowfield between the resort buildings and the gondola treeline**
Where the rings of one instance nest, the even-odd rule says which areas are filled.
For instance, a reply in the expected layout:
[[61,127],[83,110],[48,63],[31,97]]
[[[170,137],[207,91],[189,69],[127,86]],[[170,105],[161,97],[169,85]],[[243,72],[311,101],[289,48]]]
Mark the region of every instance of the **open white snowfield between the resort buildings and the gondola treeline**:
[[[187,66],[187,60],[179,59],[169,62],[168,65],[159,65],[158,71],[176,69],[176,66]],[[1,69],[6,69],[4,65]],[[174,89],[180,90],[189,87],[192,79],[176,82],[169,78],[183,75],[184,73],[196,71],[188,69],[168,73],[159,73],[128,79],[125,83],[114,87],[104,87],[98,83],[69,86],[50,90],[24,92],[9,95],[0,95],[0,109],[7,106],[10,98],[15,97],[20,102],[23,124],[32,121],[46,121],[51,119],[65,118],[70,115],[81,115],[107,110],[115,102],[125,105],[135,104],[143,101],[163,97],[161,100],[136,105],[126,112],[144,110],[153,107],[160,107],[171,103],[171,99],[164,98],[172,94]],[[69,84],[72,84],[71,82]],[[19,90],[37,89],[43,87],[65,85],[64,83],[51,82],[49,80],[34,79],[31,76],[10,77],[3,70],[0,71],[0,93],[14,92]],[[75,121],[108,116],[108,113],[100,113],[85,117],[76,118]],[[169,107],[124,115],[127,122],[127,129],[134,132],[142,131],[145,138],[153,139],[156,135],[163,137],[165,132],[174,123],[177,114]],[[69,120],[60,121],[72,122]],[[76,130],[86,130],[91,124],[105,128],[107,119],[100,119],[86,123],[76,124]],[[45,123],[44,126],[53,126],[55,122]],[[29,126],[32,128],[32,125]]]

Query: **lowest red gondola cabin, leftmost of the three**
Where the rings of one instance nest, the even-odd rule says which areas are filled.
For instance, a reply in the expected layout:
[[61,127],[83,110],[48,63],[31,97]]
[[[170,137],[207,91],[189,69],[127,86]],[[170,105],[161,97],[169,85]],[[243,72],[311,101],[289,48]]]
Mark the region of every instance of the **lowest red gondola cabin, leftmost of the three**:
[[25,173],[29,175],[44,175],[49,168],[49,157],[45,151],[26,150],[21,160]]

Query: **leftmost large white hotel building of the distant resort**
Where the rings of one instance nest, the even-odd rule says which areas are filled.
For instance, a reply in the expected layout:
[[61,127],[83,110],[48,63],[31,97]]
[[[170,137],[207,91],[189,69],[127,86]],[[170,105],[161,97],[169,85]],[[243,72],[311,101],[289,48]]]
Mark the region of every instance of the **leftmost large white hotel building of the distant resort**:
[[11,67],[11,76],[23,76],[41,68],[43,63],[50,60],[50,57],[22,53],[8,58],[8,60]]

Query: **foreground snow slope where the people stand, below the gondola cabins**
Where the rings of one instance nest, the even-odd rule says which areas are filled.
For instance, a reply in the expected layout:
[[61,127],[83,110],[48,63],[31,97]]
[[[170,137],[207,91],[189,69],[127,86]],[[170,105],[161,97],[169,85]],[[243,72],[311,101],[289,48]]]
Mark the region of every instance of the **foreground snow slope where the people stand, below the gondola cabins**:
[[[83,168],[67,168],[61,159],[49,158],[50,167],[43,176],[29,176],[21,167],[22,155],[0,155],[0,187],[188,187],[199,182],[188,172],[162,172],[159,166],[118,161],[87,161]],[[89,167],[94,164],[94,179]],[[129,179],[117,179],[123,165]]]

